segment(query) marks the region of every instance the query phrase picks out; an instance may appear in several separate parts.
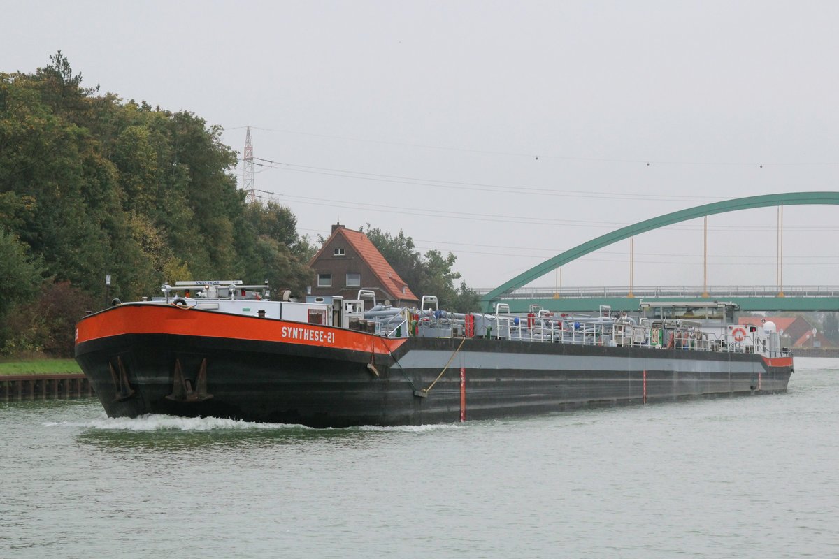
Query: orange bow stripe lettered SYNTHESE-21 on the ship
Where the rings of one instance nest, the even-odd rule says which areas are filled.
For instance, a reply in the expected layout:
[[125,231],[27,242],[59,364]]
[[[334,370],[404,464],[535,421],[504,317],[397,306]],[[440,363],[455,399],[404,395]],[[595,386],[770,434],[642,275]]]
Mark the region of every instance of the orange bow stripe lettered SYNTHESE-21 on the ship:
[[404,338],[383,339],[372,334],[319,324],[199,311],[174,305],[123,305],[82,318],[76,324],[76,344],[124,334],[247,339],[351,349],[384,355],[405,342]]

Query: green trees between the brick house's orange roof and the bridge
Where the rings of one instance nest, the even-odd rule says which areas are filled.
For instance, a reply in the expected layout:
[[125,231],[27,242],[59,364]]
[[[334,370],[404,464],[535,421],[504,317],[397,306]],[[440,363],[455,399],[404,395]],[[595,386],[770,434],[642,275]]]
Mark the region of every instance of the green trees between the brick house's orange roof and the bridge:
[[365,233],[417,297],[435,295],[440,307],[457,313],[480,308],[480,297],[466,286],[466,282],[461,281],[461,286],[455,287],[461,274],[452,270],[457,257],[451,252],[443,256],[440,251],[432,250],[423,256],[414,250],[414,240],[405,236],[402,230],[399,235],[393,236],[368,223]]

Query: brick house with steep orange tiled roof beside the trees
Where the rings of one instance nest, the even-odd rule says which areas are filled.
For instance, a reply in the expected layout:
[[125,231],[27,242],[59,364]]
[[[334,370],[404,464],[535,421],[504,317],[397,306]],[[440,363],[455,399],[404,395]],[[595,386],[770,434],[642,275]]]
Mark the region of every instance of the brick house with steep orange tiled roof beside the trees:
[[359,289],[369,289],[376,293],[377,303],[388,301],[394,307],[420,303],[367,236],[340,223],[332,225],[331,236],[311,259],[309,267],[317,277],[309,289],[311,296],[340,295],[355,299]]

